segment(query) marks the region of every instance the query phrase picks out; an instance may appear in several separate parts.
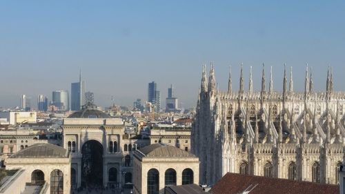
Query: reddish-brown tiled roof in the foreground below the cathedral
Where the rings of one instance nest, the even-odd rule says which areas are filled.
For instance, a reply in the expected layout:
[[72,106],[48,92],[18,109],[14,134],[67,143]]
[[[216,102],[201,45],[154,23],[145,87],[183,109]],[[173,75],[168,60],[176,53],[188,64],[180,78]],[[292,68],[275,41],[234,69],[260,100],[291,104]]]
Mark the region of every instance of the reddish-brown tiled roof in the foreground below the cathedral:
[[250,194],[338,194],[339,186],[336,184],[318,184],[253,175],[226,173],[219,180],[210,193],[237,194],[243,193],[248,187],[253,190]]

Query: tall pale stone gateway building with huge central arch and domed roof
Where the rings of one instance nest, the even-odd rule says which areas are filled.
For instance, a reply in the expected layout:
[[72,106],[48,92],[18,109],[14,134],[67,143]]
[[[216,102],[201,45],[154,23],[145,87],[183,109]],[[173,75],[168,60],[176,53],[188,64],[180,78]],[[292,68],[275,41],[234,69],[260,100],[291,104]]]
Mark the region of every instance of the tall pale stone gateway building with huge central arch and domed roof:
[[115,186],[132,183],[132,152],[149,142],[130,138],[122,119],[86,104],[63,119],[63,148],[70,151],[71,185]]

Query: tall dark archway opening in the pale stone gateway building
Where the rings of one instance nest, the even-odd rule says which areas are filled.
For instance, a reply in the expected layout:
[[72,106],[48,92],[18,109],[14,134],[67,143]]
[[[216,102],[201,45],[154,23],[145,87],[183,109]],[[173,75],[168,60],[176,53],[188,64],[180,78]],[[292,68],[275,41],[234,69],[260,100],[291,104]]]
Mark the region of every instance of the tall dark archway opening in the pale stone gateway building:
[[81,184],[94,187],[103,185],[103,146],[89,140],[81,148]]

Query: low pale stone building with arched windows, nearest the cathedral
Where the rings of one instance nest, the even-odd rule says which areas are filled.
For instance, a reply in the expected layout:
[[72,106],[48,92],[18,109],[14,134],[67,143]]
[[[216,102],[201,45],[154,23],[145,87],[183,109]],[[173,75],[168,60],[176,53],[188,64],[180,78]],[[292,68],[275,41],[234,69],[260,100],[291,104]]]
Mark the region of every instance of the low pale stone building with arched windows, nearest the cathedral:
[[199,184],[199,159],[166,144],[151,144],[134,153],[135,194],[164,193],[165,186]]

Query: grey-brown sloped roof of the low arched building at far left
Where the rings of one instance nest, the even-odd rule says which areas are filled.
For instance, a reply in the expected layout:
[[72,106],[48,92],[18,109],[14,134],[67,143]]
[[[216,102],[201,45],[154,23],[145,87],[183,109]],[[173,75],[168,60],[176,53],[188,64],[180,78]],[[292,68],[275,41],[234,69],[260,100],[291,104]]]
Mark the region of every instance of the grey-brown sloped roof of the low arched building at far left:
[[17,153],[14,153],[9,158],[64,158],[68,157],[68,151],[61,147],[53,144],[33,144],[28,148],[25,148]]

